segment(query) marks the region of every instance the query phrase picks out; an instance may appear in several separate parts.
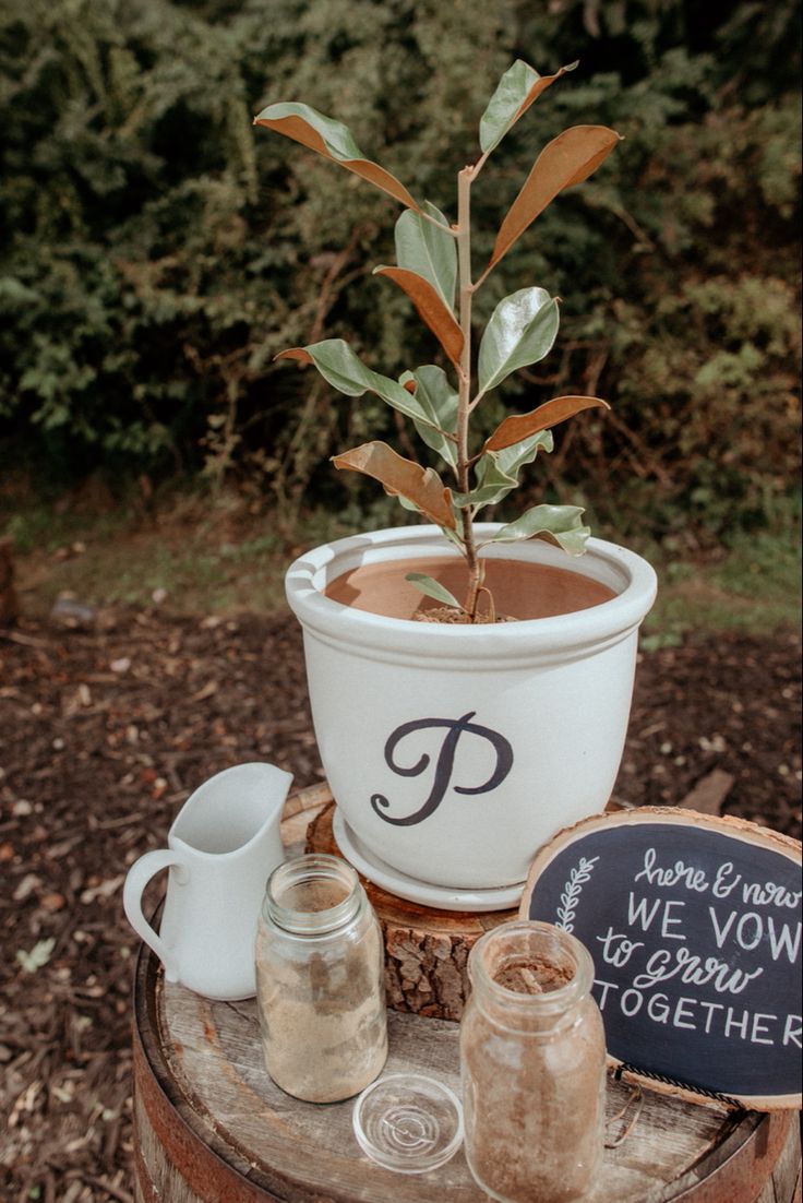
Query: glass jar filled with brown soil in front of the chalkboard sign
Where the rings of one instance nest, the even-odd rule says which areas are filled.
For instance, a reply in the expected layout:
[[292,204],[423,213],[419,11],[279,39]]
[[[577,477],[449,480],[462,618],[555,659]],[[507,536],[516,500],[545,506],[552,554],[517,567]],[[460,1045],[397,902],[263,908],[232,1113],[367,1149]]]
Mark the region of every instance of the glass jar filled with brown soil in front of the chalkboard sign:
[[504,1203],[569,1203],[600,1167],[605,1031],[587,948],[547,923],[513,920],[469,956],[460,1023],[465,1155]]

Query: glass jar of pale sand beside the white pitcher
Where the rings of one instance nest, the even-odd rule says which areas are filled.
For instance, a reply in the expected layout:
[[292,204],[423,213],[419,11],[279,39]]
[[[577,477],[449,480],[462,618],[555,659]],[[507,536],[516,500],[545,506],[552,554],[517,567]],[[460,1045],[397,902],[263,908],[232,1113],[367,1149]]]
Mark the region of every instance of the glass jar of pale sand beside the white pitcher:
[[273,871],[256,932],[268,1073],[311,1103],[359,1094],[387,1057],[382,931],[351,865],[314,853]]

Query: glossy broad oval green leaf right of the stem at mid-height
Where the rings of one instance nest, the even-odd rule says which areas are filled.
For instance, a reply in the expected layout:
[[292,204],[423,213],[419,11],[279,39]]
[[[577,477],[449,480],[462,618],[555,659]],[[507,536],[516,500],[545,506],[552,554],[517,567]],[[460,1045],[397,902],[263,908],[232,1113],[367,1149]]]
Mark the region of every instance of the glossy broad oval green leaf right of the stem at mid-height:
[[500,301],[480,343],[480,392],[542,360],[555,340],[559,320],[558,302],[546,289],[519,289]]

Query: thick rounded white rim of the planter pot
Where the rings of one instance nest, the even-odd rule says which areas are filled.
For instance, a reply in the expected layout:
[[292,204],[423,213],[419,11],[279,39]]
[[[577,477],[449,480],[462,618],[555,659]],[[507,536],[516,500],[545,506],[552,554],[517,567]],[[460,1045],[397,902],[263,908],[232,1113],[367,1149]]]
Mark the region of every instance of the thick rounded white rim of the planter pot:
[[[504,523],[475,523],[480,535],[490,535]],[[600,647],[626,638],[655,600],[656,576],[636,552],[603,539],[588,540],[583,556],[569,557],[543,540],[499,544],[484,555],[500,559],[528,559],[590,576],[615,591],[607,602],[548,618],[524,618],[495,626],[415,622],[355,610],[323,593],[331,581],[365,559],[405,559],[412,556],[459,557],[436,526],[386,527],[321,544],[299,556],[287,569],[287,602],[305,630],[325,642],[361,645],[365,652],[418,653],[448,659],[517,658],[523,652],[563,647]],[[588,571],[584,568],[594,570]],[[466,668],[470,668],[466,664]]]

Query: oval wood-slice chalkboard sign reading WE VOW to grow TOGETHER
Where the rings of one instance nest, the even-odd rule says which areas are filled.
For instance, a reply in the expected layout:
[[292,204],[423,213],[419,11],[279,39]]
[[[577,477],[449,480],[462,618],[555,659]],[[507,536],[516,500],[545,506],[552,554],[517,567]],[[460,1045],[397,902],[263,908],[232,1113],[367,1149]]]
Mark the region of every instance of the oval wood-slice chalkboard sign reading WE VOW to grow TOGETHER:
[[801,845],[643,807],[536,857],[521,914],[591,953],[608,1055],[646,1084],[801,1106]]

